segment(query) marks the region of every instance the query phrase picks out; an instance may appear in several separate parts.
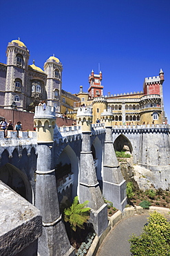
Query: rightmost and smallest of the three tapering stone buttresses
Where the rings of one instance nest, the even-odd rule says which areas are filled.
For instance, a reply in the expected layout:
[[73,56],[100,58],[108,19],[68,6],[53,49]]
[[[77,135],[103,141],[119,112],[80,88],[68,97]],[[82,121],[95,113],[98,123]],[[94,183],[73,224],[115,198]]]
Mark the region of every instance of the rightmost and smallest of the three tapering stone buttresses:
[[101,114],[101,118],[105,122],[103,195],[105,199],[114,204],[114,207],[123,211],[127,204],[126,181],[123,179],[123,174],[114,151],[111,116],[111,109],[104,110]]

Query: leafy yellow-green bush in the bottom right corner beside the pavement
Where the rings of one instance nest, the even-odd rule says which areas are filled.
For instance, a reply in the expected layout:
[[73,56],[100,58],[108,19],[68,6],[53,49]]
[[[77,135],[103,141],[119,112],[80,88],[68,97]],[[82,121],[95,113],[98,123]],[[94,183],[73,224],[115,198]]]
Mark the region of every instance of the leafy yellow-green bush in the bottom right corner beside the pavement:
[[149,223],[139,237],[132,235],[131,253],[136,256],[170,255],[170,223],[158,212],[150,214]]

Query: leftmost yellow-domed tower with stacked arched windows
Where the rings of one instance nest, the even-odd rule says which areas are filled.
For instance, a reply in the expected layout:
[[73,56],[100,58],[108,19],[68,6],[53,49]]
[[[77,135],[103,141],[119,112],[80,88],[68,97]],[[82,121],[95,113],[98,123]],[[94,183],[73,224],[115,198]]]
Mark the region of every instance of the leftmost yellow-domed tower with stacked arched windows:
[[17,109],[25,109],[25,94],[27,94],[27,73],[29,51],[20,39],[8,43],[7,72],[4,108],[11,109],[12,102],[16,102]]

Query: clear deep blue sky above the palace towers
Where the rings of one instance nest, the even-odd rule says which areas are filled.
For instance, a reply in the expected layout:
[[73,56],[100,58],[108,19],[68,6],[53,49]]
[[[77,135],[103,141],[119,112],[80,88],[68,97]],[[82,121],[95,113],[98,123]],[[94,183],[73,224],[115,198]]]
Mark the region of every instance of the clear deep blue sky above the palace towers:
[[[0,62],[20,37],[30,62],[43,68],[55,54],[63,63],[63,89],[88,89],[98,63],[104,94],[142,91],[145,77],[164,71],[164,109],[170,120],[169,0],[0,0]],[[3,24],[3,26],[2,26]]]

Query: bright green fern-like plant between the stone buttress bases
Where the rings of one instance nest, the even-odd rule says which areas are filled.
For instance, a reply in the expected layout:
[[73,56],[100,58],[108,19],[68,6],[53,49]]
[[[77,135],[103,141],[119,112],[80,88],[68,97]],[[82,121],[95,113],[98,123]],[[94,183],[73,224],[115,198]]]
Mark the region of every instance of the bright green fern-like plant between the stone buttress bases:
[[74,197],[74,201],[70,208],[64,210],[64,220],[70,222],[70,227],[72,230],[76,231],[76,228],[79,227],[84,229],[84,223],[87,223],[89,219],[90,208],[85,207],[89,201],[84,203],[78,202],[78,196]]

